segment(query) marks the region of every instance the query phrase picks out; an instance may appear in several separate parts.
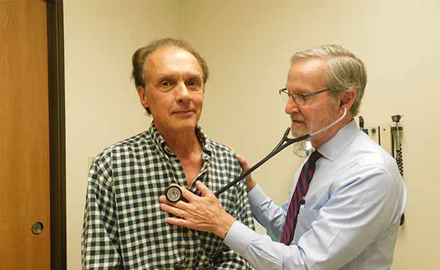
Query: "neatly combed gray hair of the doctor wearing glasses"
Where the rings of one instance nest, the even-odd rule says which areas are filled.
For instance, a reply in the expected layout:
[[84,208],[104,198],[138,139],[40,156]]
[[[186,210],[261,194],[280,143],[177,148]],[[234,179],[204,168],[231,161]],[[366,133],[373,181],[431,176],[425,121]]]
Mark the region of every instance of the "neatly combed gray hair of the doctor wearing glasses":
[[356,99],[350,109],[351,114],[356,116],[367,85],[367,72],[362,60],[341,45],[321,45],[295,53],[290,63],[293,65],[304,58],[326,60],[327,87],[333,97],[351,88],[356,90]]

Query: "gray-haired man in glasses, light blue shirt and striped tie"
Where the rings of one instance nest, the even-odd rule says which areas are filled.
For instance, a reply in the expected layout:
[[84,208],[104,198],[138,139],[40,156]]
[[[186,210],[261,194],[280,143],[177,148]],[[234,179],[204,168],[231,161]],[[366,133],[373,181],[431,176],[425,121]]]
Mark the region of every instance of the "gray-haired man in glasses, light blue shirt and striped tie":
[[[160,196],[171,225],[213,232],[255,269],[389,269],[407,193],[395,160],[363,132],[353,117],[366,85],[363,62],[339,45],[295,53],[280,95],[301,136],[346,117],[312,137],[312,153],[295,173],[281,207],[246,178],[256,219],[280,242],[229,215],[200,182],[202,197],[183,189],[188,202]],[[241,158],[244,169],[248,163]],[[177,218],[179,217],[179,218]]]

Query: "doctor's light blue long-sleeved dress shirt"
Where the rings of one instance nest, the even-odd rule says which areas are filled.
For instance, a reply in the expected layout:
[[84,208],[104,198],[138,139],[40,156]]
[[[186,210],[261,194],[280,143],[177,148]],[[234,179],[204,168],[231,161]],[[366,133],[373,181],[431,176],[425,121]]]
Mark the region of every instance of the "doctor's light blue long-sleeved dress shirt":
[[[319,149],[322,154],[298,215],[290,246],[273,242],[241,222],[224,240],[255,269],[390,269],[407,190],[395,160],[359,131],[343,126]],[[255,218],[280,237],[289,199],[281,207],[256,185],[248,193]]]

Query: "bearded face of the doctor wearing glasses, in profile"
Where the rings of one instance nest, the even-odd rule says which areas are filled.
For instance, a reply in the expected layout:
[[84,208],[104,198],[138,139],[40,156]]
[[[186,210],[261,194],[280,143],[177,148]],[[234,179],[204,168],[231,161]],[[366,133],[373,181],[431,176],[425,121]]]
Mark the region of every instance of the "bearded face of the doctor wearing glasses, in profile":
[[[327,88],[326,60],[305,58],[295,61],[287,73],[286,88],[291,94],[307,95]],[[298,105],[289,98],[285,113],[292,120],[292,135],[302,136],[322,129],[338,118],[339,103],[329,91],[306,98]]]

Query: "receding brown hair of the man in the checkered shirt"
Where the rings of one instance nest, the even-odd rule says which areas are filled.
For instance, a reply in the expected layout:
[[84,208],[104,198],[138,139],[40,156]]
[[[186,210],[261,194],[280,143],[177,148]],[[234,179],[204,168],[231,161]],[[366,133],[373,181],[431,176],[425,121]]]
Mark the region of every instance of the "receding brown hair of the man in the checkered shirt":
[[[136,50],[136,52],[133,53],[133,57],[131,58],[131,63],[133,64],[131,78],[134,80],[134,84],[136,88],[142,86],[145,88],[146,91],[144,71],[146,69],[148,55],[154,53],[156,50],[166,47],[181,48],[183,50],[186,50],[188,53],[194,55],[194,58],[197,59],[200,68],[202,68],[202,73],[203,73],[202,80],[203,80],[203,85],[205,85],[209,77],[209,68],[207,65],[207,61],[204,60],[204,58],[202,58],[201,55],[199,55],[197,50],[194,50],[194,48],[192,48],[192,45],[189,44],[187,41],[176,40],[172,38],[161,38],[156,41],[152,41],[141,48],[138,48],[138,50]],[[145,109],[147,110],[148,114],[151,114],[150,109],[148,108]]]

